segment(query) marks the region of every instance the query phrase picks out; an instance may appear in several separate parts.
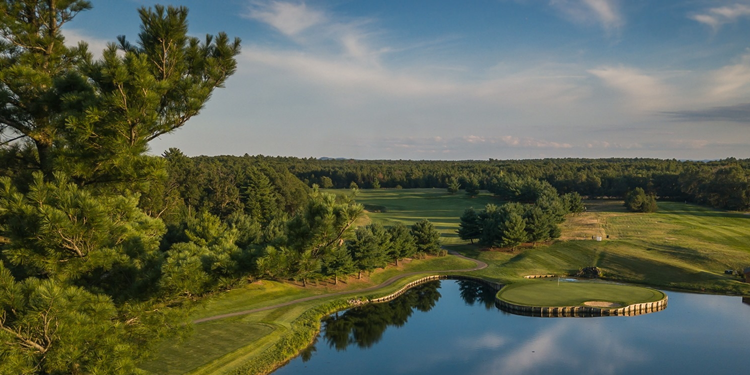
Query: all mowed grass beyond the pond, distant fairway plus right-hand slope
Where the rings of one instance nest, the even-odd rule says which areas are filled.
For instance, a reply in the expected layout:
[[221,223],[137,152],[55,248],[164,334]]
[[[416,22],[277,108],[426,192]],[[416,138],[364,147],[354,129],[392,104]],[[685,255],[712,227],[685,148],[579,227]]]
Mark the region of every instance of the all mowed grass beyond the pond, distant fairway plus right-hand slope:
[[[583,267],[597,266],[605,278],[616,281],[750,295],[750,284],[724,275],[727,269],[750,267],[750,215],[744,213],[660,201],[657,212],[638,214],[626,211],[621,200],[592,200],[586,201],[586,212],[567,217],[556,242],[516,251],[484,251],[458,239],[456,230],[464,209],[502,203],[487,193],[469,198],[442,189],[378,189],[360,190],[356,200],[384,209],[368,213],[384,225],[434,220],[447,248],[489,265],[472,275],[493,281],[573,275]],[[603,241],[593,241],[592,236]]]

